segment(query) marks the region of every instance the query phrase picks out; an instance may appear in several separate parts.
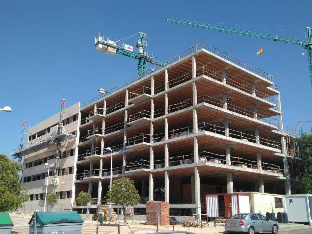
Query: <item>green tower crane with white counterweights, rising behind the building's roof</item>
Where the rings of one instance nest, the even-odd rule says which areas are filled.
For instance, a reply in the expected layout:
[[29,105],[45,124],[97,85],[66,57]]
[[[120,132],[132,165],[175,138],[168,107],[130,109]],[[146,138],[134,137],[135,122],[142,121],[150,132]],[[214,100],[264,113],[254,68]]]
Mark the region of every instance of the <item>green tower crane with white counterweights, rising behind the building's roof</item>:
[[[126,45],[122,41],[132,37],[134,35],[139,34],[139,41],[136,43],[136,49],[133,48],[131,45]],[[143,32],[138,32],[132,36],[128,36],[121,40],[114,40],[107,36],[100,36],[100,33],[96,34],[94,37],[94,44],[96,50],[105,50],[105,53],[114,55],[114,54],[121,54],[126,55],[130,58],[139,60],[138,64],[138,77],[143,78],[147,74],[147,63],[155,64],[159,66],[166,66],[167,62],[157,57],[154,57],[152,53],[146,51],[147,46],[147,35]]]

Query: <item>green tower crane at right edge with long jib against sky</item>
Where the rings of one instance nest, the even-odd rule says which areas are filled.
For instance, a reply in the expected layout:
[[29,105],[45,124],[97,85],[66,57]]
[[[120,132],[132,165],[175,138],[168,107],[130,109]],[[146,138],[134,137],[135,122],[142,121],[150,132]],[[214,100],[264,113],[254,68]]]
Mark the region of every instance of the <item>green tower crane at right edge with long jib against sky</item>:
[[201,22],[196,22],[196,21],[182,20],[182,19],[173,18],[173,17],[168,17],[166,22],[299,45],[303,47],[304,49],[308,50],[310,81],[312,85],[312,29],[310,27],[306,28],[307,41],[301,41],[301,40],[287,38],[287,37],[273,36],[273,35],[264,34],[264,33],[227,28],[227,27],[216,26],[216,25],[211,25],[211,24],[206,24],[206,23],[201,23]]

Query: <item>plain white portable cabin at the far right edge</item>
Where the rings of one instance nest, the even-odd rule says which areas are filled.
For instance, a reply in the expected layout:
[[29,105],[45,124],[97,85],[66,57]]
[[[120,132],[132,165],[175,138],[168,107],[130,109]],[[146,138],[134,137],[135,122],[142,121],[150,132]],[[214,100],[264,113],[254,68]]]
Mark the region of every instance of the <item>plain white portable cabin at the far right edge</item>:
[[312,195],[284,195],[284,204],[288,222],[312,223]]

